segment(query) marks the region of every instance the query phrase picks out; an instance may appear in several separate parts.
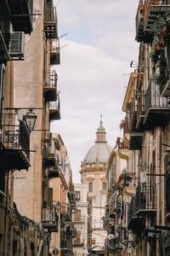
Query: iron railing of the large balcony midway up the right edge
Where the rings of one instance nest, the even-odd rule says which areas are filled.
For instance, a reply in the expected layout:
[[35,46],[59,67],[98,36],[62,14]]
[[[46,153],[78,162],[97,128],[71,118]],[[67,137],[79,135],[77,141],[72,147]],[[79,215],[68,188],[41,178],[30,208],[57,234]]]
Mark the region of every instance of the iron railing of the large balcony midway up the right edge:
[[145,113],[150,108],[169,108],[169,100],[166,97],[161,96],[160,87],[156,84],[156,79],[150,79],[150,84],[145,93]]

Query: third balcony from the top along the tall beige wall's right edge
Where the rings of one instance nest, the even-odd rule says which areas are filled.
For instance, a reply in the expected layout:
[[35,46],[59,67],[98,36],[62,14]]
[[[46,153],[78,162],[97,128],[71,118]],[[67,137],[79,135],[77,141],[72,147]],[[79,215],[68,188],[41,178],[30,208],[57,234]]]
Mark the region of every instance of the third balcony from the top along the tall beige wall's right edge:
[[46,81],[43,84],[43,93],[47,102],[54,102],[57,100],[57,80],[58,75],[55,71],[46,73]]

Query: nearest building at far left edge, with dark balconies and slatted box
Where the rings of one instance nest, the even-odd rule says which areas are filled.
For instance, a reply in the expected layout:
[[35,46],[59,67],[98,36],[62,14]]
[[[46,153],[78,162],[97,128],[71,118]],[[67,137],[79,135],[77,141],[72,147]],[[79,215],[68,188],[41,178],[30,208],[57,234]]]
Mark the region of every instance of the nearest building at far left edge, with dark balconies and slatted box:
[[[38,242],[42,239],[41,228],[34,221],[29,222],[29,218],[23,218],[14,204],[14,171],[27,170],[30,166],[30,151],[27,147],[31,136],[28,119],[26,116],[21,118],[14,106],[14,65],[16,61],[24,60],[25,38],[30,38],[33,29],[32,11],[32,1],[0,3],[1,255],[16,255],[17,251],[20,255],[30,254],[31,242],[35,242],[30,233],[32,230],[37,229],[35,234]],[[26,236],[30,238],[24,243]],[[35,247],[39,246],[37,241]]]

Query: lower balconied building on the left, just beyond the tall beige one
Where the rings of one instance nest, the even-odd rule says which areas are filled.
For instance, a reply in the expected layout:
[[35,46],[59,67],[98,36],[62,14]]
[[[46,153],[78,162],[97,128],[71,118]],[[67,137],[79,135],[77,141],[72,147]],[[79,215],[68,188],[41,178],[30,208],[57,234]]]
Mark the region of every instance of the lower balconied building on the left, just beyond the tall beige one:
[[56,166],[48,167],[48,201],[50,208],[57,212],[58,232],[51,234],[49,251],[54,254],[54,250],[57,249],[58,255],[71,256],[72,240],[75,236],[72,212],[76,208],[71,163],[60,135],[53,133],[50,141]]

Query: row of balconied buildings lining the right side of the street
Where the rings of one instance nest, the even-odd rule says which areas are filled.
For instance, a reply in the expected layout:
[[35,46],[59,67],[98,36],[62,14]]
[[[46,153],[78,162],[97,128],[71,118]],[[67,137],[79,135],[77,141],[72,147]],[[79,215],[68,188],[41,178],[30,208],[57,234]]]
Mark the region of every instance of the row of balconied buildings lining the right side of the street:
[[[114,255],[170,253],[169,10],[169,1],[154,0],[139,1],[137,9],[139,61],[131,62],[136,69],[130,75],[122,107],[126,112],[123,130],[128,127],[122,142],[126,139],[129,156],[127,172],[116,181],[116,186],[122,184],[119,222],[127,236],[122,232],[123,239],[116,237],[111,251]],[[109,212],[110,206],[106,210]],[[115,239],[116,234],[112,235],[110,238]]]

